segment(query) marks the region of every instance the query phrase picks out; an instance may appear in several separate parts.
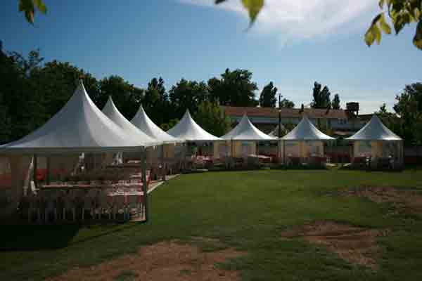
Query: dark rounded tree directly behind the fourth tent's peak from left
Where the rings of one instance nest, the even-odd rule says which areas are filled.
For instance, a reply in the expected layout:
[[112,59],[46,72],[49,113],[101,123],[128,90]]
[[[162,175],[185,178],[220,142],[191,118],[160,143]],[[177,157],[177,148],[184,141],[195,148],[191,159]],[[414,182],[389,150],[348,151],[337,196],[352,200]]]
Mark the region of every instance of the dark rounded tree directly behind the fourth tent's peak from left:
[[169,96],[175,116],[181,118],[186,110],[193,115],[198,111],[198,105],[208,98],[208,87],[204,81],[188,81],[182,78],[172,86]]

